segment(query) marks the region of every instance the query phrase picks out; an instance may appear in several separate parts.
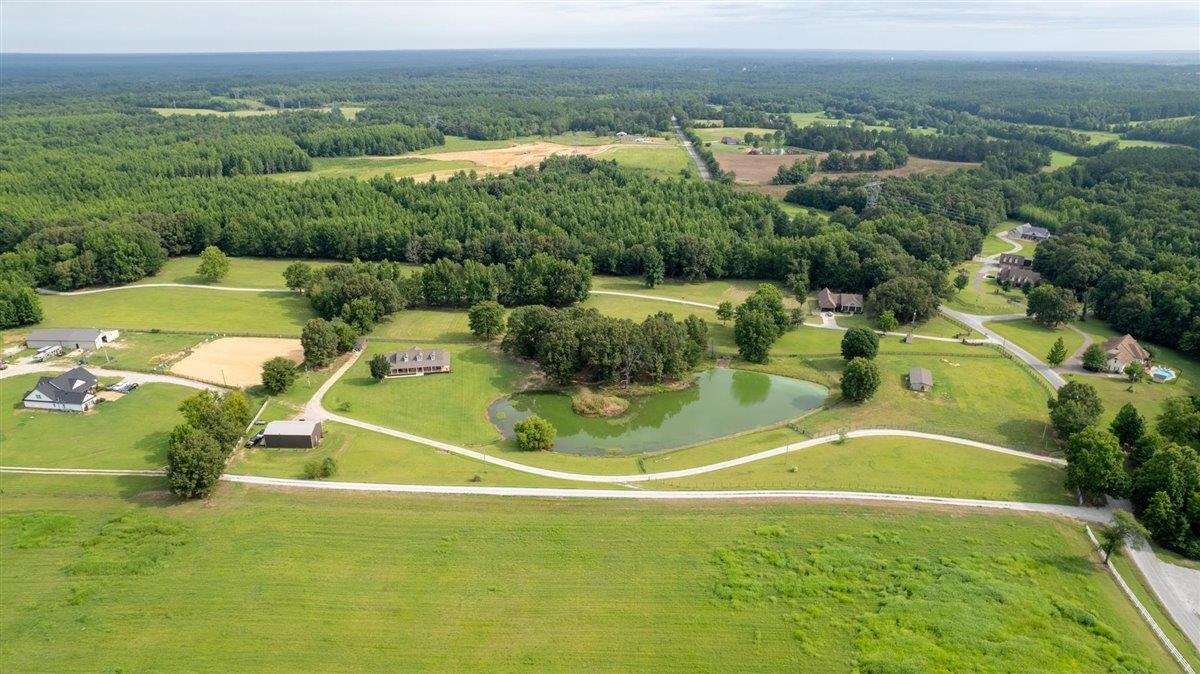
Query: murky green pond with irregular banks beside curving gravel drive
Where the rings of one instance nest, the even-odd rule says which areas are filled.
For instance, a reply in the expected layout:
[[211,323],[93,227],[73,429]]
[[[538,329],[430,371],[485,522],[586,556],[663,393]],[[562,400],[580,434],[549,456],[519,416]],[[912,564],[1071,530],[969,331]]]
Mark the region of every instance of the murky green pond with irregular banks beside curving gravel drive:
[[532,415],[548,420],[558,429],[557,452],[636,455],[779,423],[820,407],[828,395],[810,381],[720,368],[702,372],[679,391],[631,397],[620,416],[580,416],[570,396],[556,392],[500,398],[487,416],[505,438],[512,438],[514,426]]

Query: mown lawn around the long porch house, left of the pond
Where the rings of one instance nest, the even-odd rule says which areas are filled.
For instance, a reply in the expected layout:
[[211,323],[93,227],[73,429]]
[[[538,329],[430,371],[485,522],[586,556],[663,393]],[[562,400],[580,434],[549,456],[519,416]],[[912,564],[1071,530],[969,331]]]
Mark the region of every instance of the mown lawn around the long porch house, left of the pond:
[[372,342],[325,396],[325,408],[457,445],[498,441],[500,433],[487,420],[487,407],[520,386],[528,374],[526,366],[484,347],[444,347],[450,351],[452,372],[376,381],[367,362],[397,345]]

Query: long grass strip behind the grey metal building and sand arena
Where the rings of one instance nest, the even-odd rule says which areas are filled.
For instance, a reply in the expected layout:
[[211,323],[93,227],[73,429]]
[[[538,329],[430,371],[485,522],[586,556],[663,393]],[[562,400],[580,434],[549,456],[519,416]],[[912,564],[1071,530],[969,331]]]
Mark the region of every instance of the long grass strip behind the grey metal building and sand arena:
[[185,330],[298,336],[316,314],[302,295],[203,288],[134,288],[42,297],[37,327],[98,325],[121,330]]

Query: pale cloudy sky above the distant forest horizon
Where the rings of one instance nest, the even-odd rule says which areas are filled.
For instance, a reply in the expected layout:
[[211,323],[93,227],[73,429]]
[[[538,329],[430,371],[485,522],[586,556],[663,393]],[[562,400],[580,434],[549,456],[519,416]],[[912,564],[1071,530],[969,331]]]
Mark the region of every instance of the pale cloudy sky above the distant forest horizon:
[[1200,53],[1200,0],[0,0],[0,52]]

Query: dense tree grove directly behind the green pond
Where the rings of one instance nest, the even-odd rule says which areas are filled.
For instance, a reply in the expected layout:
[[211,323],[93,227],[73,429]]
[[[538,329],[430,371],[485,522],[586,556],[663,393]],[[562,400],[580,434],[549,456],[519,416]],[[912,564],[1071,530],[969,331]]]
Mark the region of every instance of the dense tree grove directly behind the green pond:
[[533,359],[547,377],[604,384],[659,383],[695,368],[708,344],[708,324],[696,315],[683,321],[666,312],[642,323],[581,307],[518,307],[509,314],[502,348]]

